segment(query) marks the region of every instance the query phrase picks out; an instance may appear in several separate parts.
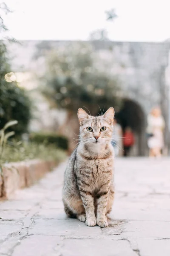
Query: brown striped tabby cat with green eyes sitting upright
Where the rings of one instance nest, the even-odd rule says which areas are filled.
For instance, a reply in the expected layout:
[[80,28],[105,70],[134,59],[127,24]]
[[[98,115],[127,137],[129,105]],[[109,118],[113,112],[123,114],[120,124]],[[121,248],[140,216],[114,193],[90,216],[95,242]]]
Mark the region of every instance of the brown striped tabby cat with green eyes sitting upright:
[[104,115],[95,117],[79,108],[77,114],[80,142],[65,170],[65,212],[88,226],[108,227],[106,214],[111,212],[114,199],[114,109],[111,107]]

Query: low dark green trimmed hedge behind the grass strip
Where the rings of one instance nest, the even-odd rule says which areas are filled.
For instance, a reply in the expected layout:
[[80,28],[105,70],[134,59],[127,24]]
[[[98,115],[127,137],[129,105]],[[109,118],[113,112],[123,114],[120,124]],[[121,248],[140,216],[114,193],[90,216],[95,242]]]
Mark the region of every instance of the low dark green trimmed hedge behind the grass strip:
[[31,142],[44,143],[45,145],[55,145],[57,148],[68,149],[68,139],[58,134],[32,133],[30,134]]

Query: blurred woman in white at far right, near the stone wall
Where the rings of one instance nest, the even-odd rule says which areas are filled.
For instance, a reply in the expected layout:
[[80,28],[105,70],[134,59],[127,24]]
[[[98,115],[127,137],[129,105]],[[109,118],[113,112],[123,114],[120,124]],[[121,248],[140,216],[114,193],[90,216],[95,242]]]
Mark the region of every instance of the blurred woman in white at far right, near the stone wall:
[[147,116],[147,145],[150,157],[161,157],[161,150],[164,148],[164,126],[161,109],[153,108]]

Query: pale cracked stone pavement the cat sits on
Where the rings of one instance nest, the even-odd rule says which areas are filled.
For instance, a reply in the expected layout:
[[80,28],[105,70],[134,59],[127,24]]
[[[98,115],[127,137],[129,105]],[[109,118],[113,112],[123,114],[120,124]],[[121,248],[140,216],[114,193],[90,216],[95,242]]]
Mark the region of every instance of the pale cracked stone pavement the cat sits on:
[[170,256],[170,159],[118,158],[109,227],[65,216],[66,163],[0,202],[0,255]]

